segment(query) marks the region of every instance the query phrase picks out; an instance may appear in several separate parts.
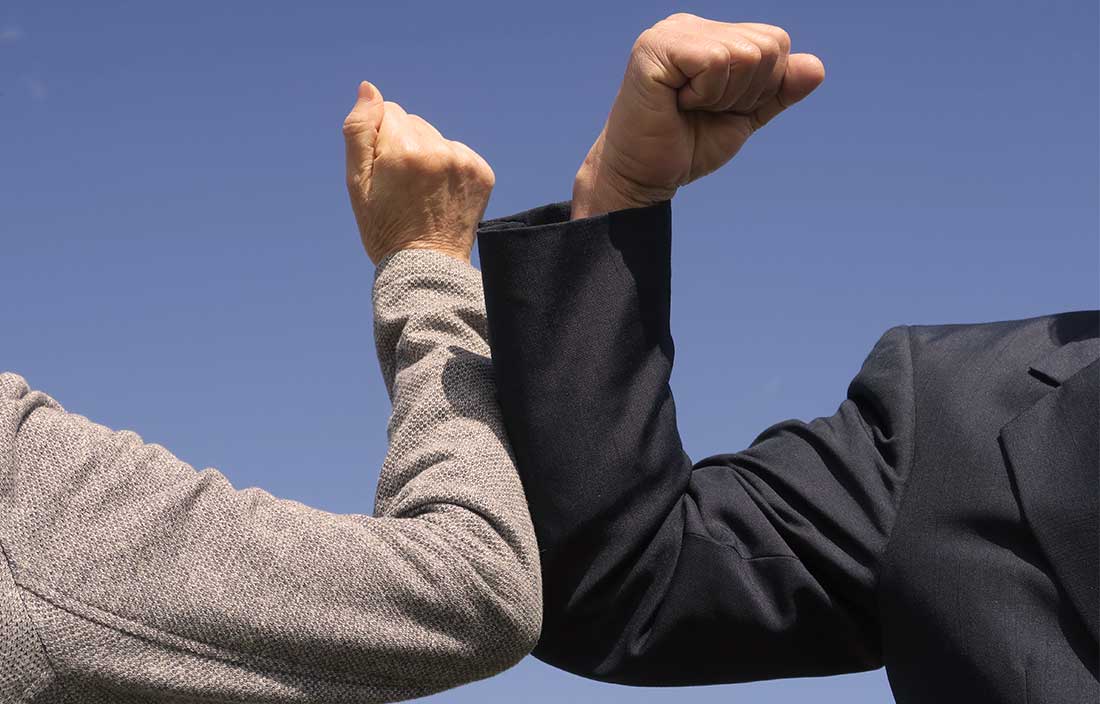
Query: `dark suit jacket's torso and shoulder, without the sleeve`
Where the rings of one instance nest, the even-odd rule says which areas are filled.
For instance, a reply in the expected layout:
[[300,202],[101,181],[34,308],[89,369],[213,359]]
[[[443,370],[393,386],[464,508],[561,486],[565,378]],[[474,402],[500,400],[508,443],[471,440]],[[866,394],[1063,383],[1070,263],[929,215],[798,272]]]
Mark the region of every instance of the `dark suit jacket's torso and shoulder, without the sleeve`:
[[880,575],[895,691],[1096,700],[1097,321],[910,328],[914,466]]

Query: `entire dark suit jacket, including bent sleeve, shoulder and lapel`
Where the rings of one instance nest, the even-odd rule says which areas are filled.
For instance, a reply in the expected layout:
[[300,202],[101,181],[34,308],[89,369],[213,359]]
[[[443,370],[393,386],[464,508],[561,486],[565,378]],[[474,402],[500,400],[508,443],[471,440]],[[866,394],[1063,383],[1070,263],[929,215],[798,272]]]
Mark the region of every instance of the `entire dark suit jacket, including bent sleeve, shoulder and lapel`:
[[569,218],[479,234],[537,657],[628,684],[886,666],[900,704],[1100,700],[1100,314],[891,329],[834,415],[693,462],[670,204]]

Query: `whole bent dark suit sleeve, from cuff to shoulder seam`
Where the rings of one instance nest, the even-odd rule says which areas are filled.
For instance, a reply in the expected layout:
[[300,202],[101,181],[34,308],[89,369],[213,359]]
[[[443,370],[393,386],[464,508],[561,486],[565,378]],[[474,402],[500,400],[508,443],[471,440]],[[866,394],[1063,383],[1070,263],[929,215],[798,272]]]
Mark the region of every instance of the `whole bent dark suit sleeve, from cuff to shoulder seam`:
[[480,232],[542,559],[535,653],[632,684],[877,668],[877,566],[912,452],[908,329],[834,416],[692,464],[669,389],[670,230],[669,202],[576,221],[557,204]]

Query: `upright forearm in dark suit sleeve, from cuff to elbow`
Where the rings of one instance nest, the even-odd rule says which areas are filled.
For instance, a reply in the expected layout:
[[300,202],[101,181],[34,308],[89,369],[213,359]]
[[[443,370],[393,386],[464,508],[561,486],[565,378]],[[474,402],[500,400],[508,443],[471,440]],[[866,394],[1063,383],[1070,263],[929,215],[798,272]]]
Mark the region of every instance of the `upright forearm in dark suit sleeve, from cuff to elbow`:
[[668,386],[670,209],[569,215],[557,204],[491,221],[480,245],[501,404],[542,551],[536,653],[609,676],[601,659],[650,602],[642,592],[662,588],[639,580],[675,568],[664,551],[656,572],[630,576],[658,529],[676,532],[691,476]]

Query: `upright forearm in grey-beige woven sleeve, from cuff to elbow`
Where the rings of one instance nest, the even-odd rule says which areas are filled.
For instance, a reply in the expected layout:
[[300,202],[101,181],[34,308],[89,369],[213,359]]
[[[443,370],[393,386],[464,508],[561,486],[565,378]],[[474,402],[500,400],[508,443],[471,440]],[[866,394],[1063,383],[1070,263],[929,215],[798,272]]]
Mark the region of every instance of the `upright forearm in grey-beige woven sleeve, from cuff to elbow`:
[[535,534],[496,400],[481,275],[437,252],[398,252],[378,268],[374,312],[393,399],[375,516],[433,544],[444,558],[439,569],[461,570],[447,596],[458,600],[457,614],[479,616],[463,635],[473,660],[460,664],[491,674],[534,646],[541,591]]

